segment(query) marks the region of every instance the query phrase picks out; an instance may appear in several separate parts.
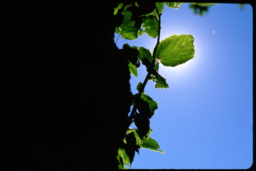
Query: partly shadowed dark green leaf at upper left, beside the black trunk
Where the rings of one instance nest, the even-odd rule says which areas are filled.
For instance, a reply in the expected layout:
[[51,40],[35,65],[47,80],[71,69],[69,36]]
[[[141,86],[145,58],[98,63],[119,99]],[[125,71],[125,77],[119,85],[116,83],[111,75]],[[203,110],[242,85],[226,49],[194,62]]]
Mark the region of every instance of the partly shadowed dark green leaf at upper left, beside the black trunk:
[[132,11],[126,11],[126,9],[130,6],[126,6],[124,11],[121,13],[123,15],[124,20],[123,23],[120,25],[120,33],[123,39],[128,40],[135,40],[138,38],[138,32],[142,24],[142,17],[132,17]]

